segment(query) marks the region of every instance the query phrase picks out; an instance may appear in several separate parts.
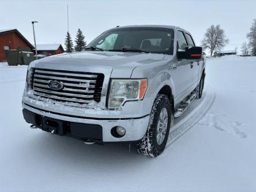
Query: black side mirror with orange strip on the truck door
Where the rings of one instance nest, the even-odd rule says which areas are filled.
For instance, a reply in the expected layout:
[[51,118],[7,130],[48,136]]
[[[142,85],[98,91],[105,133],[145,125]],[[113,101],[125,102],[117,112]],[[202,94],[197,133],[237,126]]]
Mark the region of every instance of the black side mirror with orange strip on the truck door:
[[202,47],[186,47],[185,51],[177,51],[178,59],[201,59]]

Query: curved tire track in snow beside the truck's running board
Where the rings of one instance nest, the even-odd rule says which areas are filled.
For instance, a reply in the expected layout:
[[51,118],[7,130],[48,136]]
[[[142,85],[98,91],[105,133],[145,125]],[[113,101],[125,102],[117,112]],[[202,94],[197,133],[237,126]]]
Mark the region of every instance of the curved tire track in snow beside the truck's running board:
[[213,91],[212,86],[208,85],[208,89],[204,93],[205,97],[201,103],[195,107],[193,111],[187,114],[184,119],[176,124],[174,123],[174,126],[171,127],[166,148],[178,140],[178,138],[185,134],[186,131],[191,129],[191,127],[193,127],[212,106],[216,97],[216,93]]

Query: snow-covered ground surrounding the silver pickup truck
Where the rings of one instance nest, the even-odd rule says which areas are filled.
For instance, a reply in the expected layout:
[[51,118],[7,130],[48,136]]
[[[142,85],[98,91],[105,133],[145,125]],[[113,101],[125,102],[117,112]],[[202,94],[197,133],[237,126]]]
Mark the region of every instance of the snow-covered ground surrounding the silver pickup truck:
[[31,130],[27,67],[0,63],[0,191],[256,191],[256,58],[208,59],[204,97],[156,159]]

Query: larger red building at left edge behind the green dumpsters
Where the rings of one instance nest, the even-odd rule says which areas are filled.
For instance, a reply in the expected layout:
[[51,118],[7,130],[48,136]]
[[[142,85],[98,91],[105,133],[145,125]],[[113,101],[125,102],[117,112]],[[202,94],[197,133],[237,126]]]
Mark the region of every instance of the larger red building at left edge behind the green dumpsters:
[[17,47],[34,49],[32,44],[17,29],[0,29],[0,62],[6,60],[8,50],[16,50]]

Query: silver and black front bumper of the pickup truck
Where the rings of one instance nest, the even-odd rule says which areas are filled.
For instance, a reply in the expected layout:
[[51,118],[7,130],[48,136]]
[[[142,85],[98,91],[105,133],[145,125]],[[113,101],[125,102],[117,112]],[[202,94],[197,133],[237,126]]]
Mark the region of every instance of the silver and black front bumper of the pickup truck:
[[[96,142],[133,142],[138,141],[142,137],[144,137],[144,134],[146,133],[146,130],[148,128],[149,123],[149,115],[141,116],[140,118],[86,118],[83,116],[75,116],[75,115],[68,115],[68,114],[59,114],[57,112],[49,112],[44,111],[40,108],[36,108],[33,106],[29,106],[28,104],[22,103],[22,108],[31,115],[35,114],[36,119],[35,122],[31,121],[31,118],[29,118],[29,115],[24,115],[25,120],[28,123],[37,124],[36,126],[42,126],[42,117],[47,117],[51,119],[56,119],[57,121],[65,122],[65,131],[62,135],[70,135],[71,137],[80,138],[82,140],[86,139],[92,139],[92,140],[99,140]],[[79,129],[78,131],[72,131],[70,129],[70,124],[73,123],[73,125],[76,124],[76,127]],[[80,125],[80,126],[77,126]],[[117,138],[114,137],[111,134],[111,129],[115,126],[122,126],[126,129],[126,134],[123,137]],[[82,129],[86,129],[86,127],[101,127],[100,130],[97,131],[98,135],[91,135],[88,132],[88,135],[86,135],[86,131],[83,131]],[[89,128],[88,128],[89,129]],[[98,129],[98,128],[97,128]],[[76,132],[76,133],[74,133]],[[77,134],[81,133],[81,135]],[[85,134],[84,134],[85,133]],[[101,135],[100,135],[101,133]],[[95,137],[95,138],[90,138]],[[100,141],[101,140],[101,141]]]

